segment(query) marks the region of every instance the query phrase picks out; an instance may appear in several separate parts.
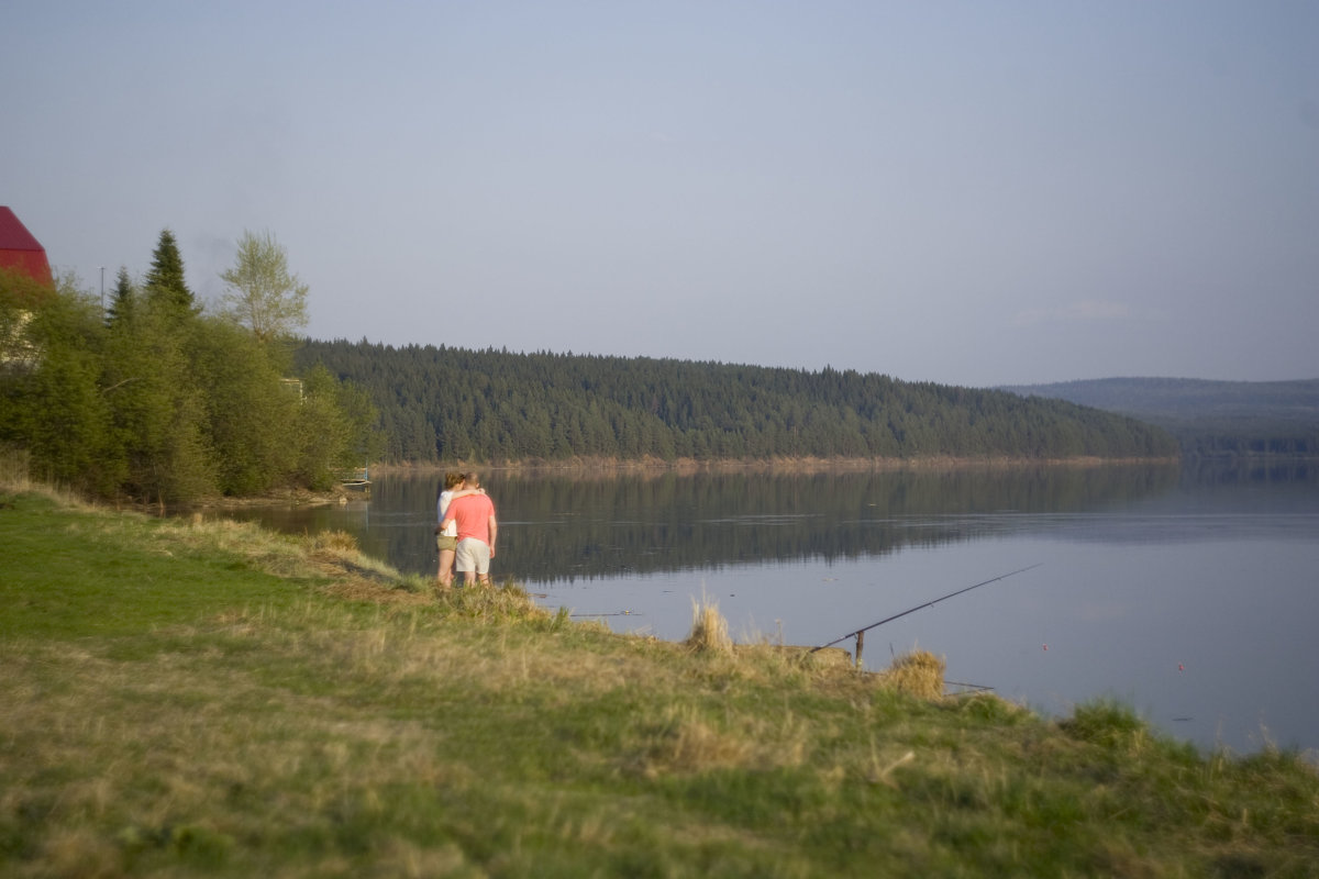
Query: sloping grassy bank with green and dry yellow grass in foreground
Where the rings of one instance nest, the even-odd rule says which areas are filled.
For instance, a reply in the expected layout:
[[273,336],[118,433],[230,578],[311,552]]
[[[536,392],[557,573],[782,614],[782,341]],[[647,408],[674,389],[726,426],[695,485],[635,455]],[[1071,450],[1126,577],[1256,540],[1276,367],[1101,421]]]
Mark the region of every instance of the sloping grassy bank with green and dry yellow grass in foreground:
[[[1278,875],[1319,775],[0,490],[0,875]],[[714,633],[714,634],[711,634]]]

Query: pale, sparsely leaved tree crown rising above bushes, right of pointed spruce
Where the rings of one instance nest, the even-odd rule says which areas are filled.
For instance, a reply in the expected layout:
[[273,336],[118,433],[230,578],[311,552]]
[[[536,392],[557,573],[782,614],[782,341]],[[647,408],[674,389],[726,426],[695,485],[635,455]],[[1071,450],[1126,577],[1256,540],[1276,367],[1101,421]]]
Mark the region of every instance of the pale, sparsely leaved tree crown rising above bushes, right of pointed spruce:
[[269,232],[244,232],[233,268],[220,278],[228,285],[220,299],[224,316],[251,329],[259,341],[306,326],[307,285],[289,273],[288,256]]

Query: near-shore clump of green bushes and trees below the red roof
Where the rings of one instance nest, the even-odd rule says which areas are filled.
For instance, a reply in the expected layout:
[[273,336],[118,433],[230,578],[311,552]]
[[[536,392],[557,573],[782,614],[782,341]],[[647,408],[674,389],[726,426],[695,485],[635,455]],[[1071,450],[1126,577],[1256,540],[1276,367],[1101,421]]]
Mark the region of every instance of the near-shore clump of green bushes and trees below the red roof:
[[306,286],[273,237],[245,233],[207,314],[169,229],[109,307],[75,278],[0,271],[0,447],[103,498],[179,502],[328,488],[381,452],[365,393],[294,372]]

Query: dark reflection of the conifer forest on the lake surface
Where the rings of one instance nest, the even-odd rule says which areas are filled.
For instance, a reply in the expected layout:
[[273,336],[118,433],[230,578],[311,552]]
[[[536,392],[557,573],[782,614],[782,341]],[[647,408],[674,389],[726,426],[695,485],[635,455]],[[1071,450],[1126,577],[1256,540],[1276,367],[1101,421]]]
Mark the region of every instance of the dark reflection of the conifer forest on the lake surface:
[[[496,576],[539,582],[884,555],[1004,527],[992,514],[1092,510],[1177,482],[1177,467],[485,478],[501,522]],[[430,510],[434,498],[434,477],[388,477],[376,484],[372,517]],[[421,527],[386,528],[384,539],[396,563],[431,547]]]

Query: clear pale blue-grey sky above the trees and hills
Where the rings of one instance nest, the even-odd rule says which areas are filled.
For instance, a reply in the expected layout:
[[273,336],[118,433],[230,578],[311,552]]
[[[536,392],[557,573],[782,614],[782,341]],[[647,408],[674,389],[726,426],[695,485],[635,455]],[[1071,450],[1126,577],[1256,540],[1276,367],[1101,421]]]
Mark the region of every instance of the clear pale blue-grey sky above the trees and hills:
[[[315,339],[1319,377],[1319,3],[5,0],[0,204]],[[104,266],[104,273],[102,268]]]

